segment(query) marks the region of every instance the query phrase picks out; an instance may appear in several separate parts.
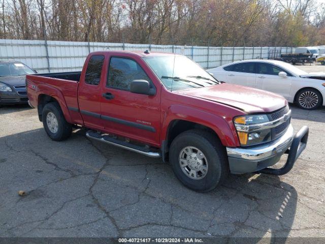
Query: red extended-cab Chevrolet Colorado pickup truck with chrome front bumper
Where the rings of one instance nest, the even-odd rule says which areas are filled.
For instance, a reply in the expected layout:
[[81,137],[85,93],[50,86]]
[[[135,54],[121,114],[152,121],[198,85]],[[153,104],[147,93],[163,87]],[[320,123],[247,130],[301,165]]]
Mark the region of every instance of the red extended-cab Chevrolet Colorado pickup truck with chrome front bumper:
[[[90,53],[82,72],[26,76],[29,104],[48,136],[86,136],[170,162],[188,188],[206,192],[229,173],[287,173],[306,147],[287,101],[218,82],[189,58],[170,53]],[[288,154],[280,169],[270,166]]]

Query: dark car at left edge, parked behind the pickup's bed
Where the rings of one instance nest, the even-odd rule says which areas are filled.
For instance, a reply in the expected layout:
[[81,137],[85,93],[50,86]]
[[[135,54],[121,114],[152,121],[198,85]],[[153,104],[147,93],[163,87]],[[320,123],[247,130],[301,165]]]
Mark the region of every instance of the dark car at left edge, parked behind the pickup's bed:
[[0,61],[0,106],[26,104],[26,74],[36,72],[19,61]]

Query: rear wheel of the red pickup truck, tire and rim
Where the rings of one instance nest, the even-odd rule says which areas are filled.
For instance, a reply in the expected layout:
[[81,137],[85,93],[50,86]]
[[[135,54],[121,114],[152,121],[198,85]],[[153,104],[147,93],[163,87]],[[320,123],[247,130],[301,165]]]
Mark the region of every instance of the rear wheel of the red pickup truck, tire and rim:
[[44,106],[42,121],[46,133],[54,141],[65,140],[72,133],[72,125],[64,118],[60,105],[56,102]]

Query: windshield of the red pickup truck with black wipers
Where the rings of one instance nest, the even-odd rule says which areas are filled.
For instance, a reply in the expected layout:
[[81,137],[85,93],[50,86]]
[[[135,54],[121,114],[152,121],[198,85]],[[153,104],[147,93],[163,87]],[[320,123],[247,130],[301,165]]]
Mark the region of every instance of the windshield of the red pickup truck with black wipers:
[[213,76],[185,56],[149,56],[144,57],[144,60],[169,90],[219,84]]

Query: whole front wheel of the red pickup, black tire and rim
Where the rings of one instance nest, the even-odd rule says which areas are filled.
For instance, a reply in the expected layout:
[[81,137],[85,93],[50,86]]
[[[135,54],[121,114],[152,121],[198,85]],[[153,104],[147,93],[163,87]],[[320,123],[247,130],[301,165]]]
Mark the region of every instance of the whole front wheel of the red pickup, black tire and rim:
[[178,135],[170,147],[170,163],[182,184],[198,192],[215,189],[229,175],[225,147],[204,130]]

